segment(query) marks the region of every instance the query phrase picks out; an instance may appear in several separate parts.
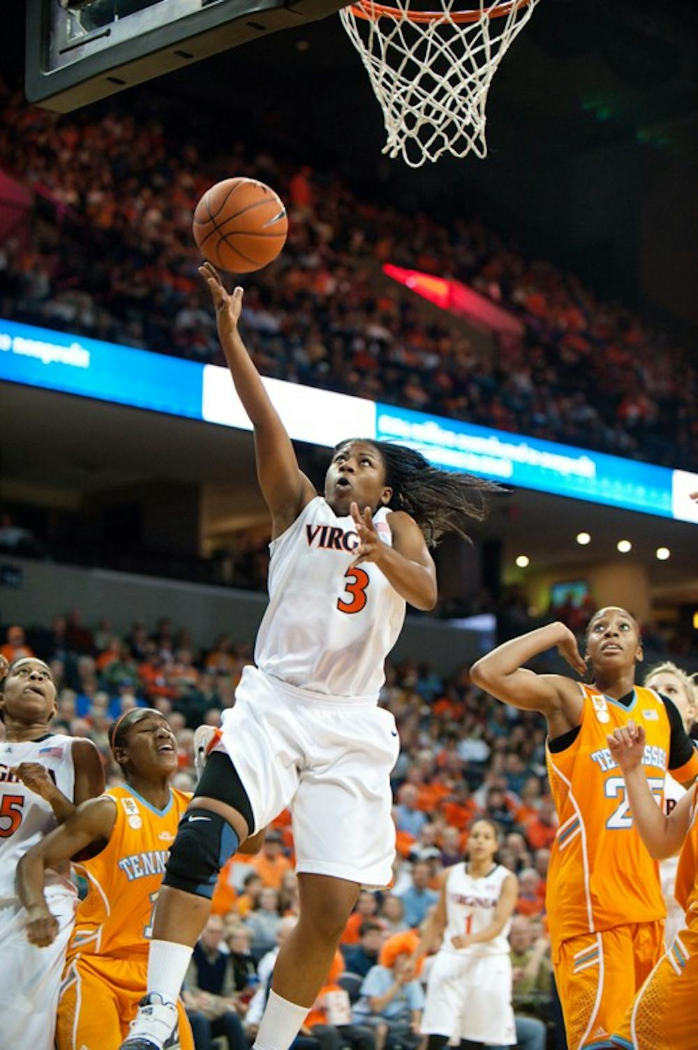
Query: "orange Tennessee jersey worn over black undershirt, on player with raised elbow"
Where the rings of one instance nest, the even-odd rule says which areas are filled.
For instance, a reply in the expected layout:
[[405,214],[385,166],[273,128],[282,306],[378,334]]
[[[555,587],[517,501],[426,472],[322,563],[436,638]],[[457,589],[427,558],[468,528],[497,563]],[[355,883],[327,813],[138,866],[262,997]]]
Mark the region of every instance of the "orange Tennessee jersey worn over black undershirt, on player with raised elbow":
[[665,915],[657,862],[633,824],[622,773],[607,734],[633,719],[644,728],[642,765],[657,802],[663,801],[671,746],[667,708],[656,693],[635,687],[631,704],[592,686],[581,723],[564,751],[546,748],[550,789],[559,817],[548,868],[546,905],[553,951],[560,942]]

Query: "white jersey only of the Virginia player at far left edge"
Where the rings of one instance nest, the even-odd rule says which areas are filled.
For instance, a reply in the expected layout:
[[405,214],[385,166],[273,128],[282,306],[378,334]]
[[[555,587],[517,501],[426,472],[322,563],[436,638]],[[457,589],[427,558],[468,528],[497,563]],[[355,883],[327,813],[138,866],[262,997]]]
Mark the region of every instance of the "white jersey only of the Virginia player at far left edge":
[[[20,762],[40,762],[56,786],[72,800],[76,772],[71,736],[45,736],[22,743],[0,743],[0,900],[16,898],[15,875],[21,857],[57,826],[48,802],[9,772]],[[62,873],[66,877],[68,868]],[[57,880],[54,878],[52,880]]]

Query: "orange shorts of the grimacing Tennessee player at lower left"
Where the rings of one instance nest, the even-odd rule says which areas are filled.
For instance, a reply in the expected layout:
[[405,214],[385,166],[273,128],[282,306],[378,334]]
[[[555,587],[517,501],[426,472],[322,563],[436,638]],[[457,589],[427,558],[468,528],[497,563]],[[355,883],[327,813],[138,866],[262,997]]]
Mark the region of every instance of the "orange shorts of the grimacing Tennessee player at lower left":
[[[148,960],[78,956],[63,973],[56,1046],[58,1050],[117,1050],[128,1034],[145,995]],[[182,1003],[179,1047],[194,1050],[191,1028]]]

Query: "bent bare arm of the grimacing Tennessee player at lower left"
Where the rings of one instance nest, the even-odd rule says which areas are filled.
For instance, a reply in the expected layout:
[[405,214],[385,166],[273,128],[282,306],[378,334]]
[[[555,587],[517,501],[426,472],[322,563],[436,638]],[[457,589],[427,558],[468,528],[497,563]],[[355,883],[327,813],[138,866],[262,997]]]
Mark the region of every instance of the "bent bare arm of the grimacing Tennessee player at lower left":
[[26,936],[31,944],[44,948],[58,933],[58,922],[44,897],[46,868],[64,864],[92,842],[108,841],[115,819],[113,799],[89,799],[22,857],[17,865],[17,888],[28,912]]

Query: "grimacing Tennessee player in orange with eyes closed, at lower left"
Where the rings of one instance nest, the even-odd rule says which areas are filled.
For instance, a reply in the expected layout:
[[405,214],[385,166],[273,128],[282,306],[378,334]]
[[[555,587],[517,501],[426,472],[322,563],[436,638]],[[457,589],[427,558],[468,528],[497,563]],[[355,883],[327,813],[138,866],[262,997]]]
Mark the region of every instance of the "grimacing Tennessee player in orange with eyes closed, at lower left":
[[[177,771],[174,735],[158,711],[133,708],[109,739],[125,784],[83,803],[22,859],[19,892],[31,944],[51,944],[58,921],[44,897],[44,872],[76,855],[89,883],[68,945],[58,1009],[59,1050],[118,1047],[145,994],[148,938],[169,846],[190,796],[169,786]],[[178,1045],[193,1050],[178,1004]],[[177,1045],[175,1035],[168,1046]]]

